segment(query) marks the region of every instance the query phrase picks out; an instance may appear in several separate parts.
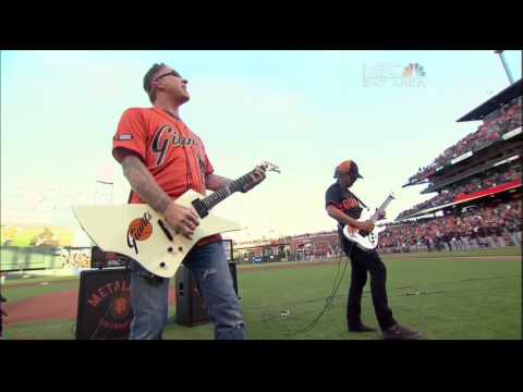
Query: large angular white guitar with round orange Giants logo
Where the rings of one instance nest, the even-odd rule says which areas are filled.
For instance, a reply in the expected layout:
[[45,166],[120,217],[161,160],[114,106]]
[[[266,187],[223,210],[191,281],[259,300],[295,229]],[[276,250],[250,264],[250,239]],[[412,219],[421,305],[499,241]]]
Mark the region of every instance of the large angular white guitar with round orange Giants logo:
[[[276,164],[262,162],[267,171],[280,172]],[[166,219],[146,204],[73,206],[82,229],[104,252],[113,252],[138,261],[149,272],[171,278],[180,264],[200,238],[241,230],[232,220],[209,211],[220,201],[243,189],[252,181],[251,171],[220,191],[204,197],[188,189],[177,199],[181,206],[193,208],[200,217],[192,240],[171,228]]]

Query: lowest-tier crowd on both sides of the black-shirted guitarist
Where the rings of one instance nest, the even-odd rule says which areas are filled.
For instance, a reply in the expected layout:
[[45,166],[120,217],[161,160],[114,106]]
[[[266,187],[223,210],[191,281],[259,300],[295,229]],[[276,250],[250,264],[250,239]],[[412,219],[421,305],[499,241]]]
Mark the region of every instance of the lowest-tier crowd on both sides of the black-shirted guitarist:
[[[387,223],[379,234],[379,253],[457,252],[515,245],[521,247],[522,198],[436,218]],[[305,241],[304,241],[305,240]],[[283,245],[284,244],[284,245]],[[338,232],[306,233],[273,240],[263,247],[242,249],[236,262],[301,261],[343,257]]]

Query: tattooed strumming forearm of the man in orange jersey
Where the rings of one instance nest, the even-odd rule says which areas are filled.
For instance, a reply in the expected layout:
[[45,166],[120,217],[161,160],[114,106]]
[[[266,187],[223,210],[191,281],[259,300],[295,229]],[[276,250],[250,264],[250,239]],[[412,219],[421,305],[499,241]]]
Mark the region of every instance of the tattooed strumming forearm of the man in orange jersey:
[[122,160],[123,175],[138,196],[158,212],[163,212],[171,198],[156,183],[145,164],[135,156]]

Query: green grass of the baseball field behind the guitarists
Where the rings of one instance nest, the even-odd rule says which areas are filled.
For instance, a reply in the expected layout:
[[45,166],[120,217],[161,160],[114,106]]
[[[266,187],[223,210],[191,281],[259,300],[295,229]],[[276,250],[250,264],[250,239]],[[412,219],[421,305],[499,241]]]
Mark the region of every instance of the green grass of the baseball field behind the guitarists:
[[[382,255],[388,269],[388,295],[394,317],[430,340],[521,340],[521,255],[518,248],[467,253]],[[341,260],[340,274],[345,264]],[[378,333],[349,334],[345,326],[350,264],[331,306],[315,327],[305,328],[323,310],[339,266],[307,262],[240,266],[239,290],[247,339],[376,340]],[[267,268],[271,267],[271,268]],[[2,287],[10,303],[78,286],[77,278],[38,278],[48,285],[26,286],[24,280]],[[415,294],[417,293],[417,294]],[[363,320],[377,327],[369,282],[363,297]],[[282,317],[281,310],[289,310]],[[175,313],[170,309],[170,316]],[[74,339],[75,320],[16,324],[5,339]],[[169,323],[165,339],[212,339],[211,324]]]

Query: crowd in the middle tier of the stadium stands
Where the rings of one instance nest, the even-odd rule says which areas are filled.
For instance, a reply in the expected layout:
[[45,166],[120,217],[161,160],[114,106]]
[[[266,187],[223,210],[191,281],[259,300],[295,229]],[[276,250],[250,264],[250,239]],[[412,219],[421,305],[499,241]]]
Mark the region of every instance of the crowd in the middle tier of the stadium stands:
[[483,179],[475,177],[476,181],[467,182],[466,184],[461,184],[449,189],[443,189],[433,198],[419,203],[414,207],[400,212],[398,219],[408,217],[414,212],[427,208],[438,207],[447,203],[452,203],[452,200],[461,194],[470,194],[483,189],[488,189],[490,187],[506,184],[516,179],[521,179],[521,169],[509,168],[508,170],[501,172],[486,172],[485,177]]

